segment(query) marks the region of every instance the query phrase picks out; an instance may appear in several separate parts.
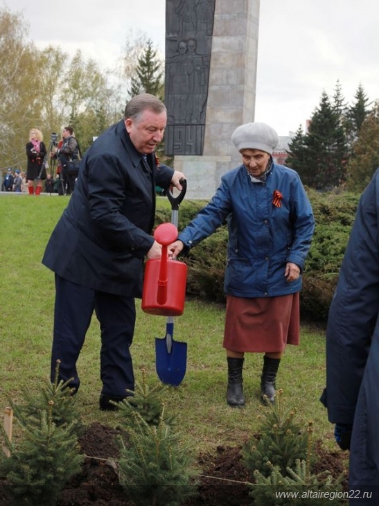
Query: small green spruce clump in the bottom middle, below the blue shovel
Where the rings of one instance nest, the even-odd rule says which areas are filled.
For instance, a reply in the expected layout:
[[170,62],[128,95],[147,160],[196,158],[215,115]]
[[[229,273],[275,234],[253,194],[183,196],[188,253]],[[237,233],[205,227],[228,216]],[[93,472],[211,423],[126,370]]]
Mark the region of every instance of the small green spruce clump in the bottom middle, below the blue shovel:
[[195,458],[180,442],[175,417],[165,414],[161,394],[167,386],[157,383],[150,389],[144,372],[136,386],[119,403],[119,482],[136,504],[182,505],[197,495]]

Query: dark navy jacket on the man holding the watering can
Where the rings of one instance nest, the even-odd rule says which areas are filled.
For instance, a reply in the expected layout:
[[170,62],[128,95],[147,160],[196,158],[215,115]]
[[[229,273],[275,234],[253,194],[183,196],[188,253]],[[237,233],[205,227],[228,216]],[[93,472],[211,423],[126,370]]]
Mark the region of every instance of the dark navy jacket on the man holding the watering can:
[[152,247],[155,186],[173,169],[147,163],[124,121],[85,153],[75,191],[46,246],[42,263],[60,277],[105,293],[141,297],[143,258]]

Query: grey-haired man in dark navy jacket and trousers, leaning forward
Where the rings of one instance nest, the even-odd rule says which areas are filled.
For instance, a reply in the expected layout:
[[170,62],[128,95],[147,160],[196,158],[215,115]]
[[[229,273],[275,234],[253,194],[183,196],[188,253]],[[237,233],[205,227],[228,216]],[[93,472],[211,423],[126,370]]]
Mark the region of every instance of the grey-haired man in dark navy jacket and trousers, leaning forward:
[[55,272],[51,380],[60,360],[59,379],[78,390],[76,361],[96,311],[101,410],[113,410],[112,401],[134,391],[134,297],[142,293],[143,260],[161,256],[151,235],[155,187],[182,189],[184,175],[155,157],[166,120],[166,107],[155,96],[141,94],[127,103],[123,119],[85,153],[76,189],[42,260]]

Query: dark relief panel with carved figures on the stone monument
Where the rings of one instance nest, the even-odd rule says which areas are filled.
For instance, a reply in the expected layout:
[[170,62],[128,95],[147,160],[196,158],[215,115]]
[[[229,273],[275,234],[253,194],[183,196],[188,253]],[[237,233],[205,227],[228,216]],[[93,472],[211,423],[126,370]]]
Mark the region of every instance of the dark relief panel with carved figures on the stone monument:
[[167,155],[202,155],[215,0],[166,1]]

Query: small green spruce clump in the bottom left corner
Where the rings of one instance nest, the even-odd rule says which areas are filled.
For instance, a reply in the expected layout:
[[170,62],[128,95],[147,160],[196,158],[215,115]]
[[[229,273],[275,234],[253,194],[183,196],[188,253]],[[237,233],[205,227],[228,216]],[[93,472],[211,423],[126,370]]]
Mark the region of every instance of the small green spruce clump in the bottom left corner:
[[[0,460],[0,476],[6,478],[16,505],[55,506],[64,484],[80,472],[84,456],[78,443],[83,426],[69,381],[42,385],[37,392],[24,390],[24,403],[10,400],[21,427],[13,444],[4,433],[10,452]],[[3,428],[1,428],[3,429]]]

